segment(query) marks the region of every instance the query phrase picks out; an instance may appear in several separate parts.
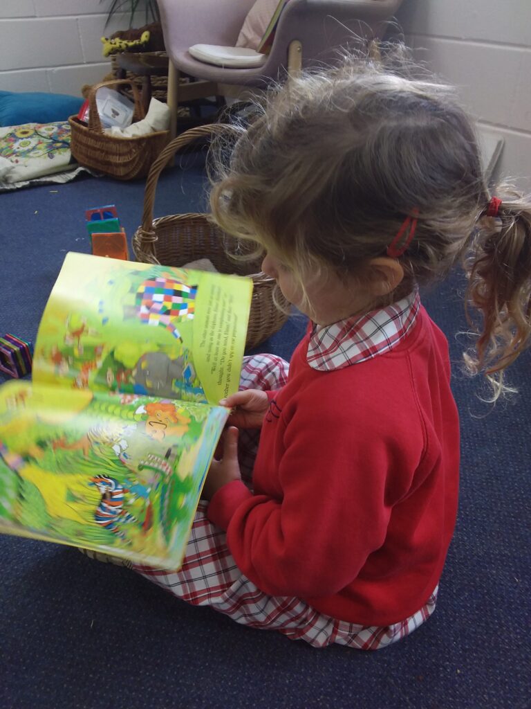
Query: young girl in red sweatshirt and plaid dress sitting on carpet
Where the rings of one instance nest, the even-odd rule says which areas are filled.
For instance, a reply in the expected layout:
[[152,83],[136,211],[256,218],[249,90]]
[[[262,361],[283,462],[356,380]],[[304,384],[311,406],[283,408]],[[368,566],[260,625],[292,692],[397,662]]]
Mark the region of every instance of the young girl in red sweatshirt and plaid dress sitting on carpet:
[[293,80],[237,130],[213,216],[310,325],[289,369],[247,358],[221,402],[232,426],[182,568],[135,569],[238,623],[377,649],[433,613],[457,510],[447,342],[418,286],[467,259],[467,363],[498,396],[530,340],[531,211],[487,194],[446,86],[382,65]]

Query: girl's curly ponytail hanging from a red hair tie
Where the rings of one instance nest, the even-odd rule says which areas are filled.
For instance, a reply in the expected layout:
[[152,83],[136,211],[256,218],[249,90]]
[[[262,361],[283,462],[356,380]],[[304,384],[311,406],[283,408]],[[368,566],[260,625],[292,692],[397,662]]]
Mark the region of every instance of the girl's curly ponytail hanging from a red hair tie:
[[481,209],[464,260],[467,319],[478,335],[465,362],[471,372],[486,374],[493,401],[508,391],[503,372],[531,341],[531,200],[507,194],[515,199],[493,197]]

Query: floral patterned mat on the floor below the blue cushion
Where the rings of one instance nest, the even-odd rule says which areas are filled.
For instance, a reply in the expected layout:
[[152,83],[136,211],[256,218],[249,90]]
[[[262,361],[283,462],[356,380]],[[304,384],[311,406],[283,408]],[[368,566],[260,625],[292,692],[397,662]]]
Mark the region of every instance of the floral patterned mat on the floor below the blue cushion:
[[69,182],[82,171],[86,169],[79,167],[70,152],[68,122],[0,128],[0,190]]

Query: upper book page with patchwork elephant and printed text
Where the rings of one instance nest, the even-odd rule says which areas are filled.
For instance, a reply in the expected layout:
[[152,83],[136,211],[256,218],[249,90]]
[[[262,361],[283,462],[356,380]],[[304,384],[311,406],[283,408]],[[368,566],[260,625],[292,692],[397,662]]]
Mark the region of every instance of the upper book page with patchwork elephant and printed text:
[[42,316],[33,381],[217,404],[238,389],[252,287],[71,252]]

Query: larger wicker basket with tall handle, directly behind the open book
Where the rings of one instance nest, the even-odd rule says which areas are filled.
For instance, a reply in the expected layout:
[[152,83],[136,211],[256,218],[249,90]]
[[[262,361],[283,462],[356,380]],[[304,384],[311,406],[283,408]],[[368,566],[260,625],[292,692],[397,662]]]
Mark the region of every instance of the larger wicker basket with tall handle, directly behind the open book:
[[[182,133],[166,145],[153,163],[144,194],[142,225],[132,239],[132,248],[138,261],[165,266],[183,266],[196,259],[208,258],[220,273],[247,276],[253,280],[251,315],[246,346],[256,347],[279,330],[287,320],[273,301],[275,280],[260,271],[260,262],[235,260],[229,256],[236,249],[236,241],[210,223],[207,214],[173,214],[153,219],[156,184],[159,174],[173,155],[198,138],[227,130],[221,124],[202,125]],[[241,248],[239,249],[241,252]],[[278,305],[288,311],[289,303],[280,291],[275,294]]]

